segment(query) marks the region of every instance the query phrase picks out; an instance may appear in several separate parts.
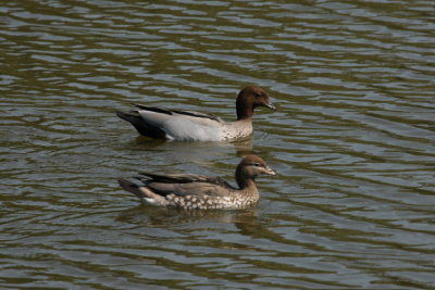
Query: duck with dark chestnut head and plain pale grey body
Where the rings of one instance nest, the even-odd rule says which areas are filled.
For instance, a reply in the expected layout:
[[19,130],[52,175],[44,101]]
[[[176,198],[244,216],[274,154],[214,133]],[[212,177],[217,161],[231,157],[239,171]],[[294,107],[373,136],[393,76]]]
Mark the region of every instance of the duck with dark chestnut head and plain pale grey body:
[[248,86],[236,100],[237,119],[222,118],[201,112],[170,110],[133,103],[137,110],[117,111],[116,115],[129,122],[144,136],[177,141],[227,141],[252,134],[253,110],[258,106],[276,108],[269,101],[264,89]]

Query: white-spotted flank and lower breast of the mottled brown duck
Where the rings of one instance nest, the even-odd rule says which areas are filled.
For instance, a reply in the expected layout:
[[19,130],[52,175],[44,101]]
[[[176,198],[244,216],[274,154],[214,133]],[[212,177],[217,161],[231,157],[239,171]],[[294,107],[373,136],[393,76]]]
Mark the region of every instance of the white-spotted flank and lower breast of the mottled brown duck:
[[243,209],[256,203],[259,200],[259,197],[258,194],[232,194],[227,197],[178,197],[175,194],[169,194],[166,196],[166,200],[169,202],[167,206],[174,206],[185,210]]

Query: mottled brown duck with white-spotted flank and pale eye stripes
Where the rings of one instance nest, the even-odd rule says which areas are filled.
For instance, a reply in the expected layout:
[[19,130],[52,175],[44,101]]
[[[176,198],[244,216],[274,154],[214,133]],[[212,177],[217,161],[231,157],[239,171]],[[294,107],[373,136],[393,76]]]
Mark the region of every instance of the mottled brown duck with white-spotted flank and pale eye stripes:
[[183,210],[245,209],[260,199],[256,185],[259,175],[276,175],[263,159],[247,155],[236,167],[234,187],[220,177],[196,174],[140,173],[119,179],[120,186],[142,203]]

